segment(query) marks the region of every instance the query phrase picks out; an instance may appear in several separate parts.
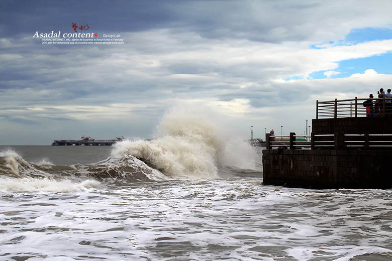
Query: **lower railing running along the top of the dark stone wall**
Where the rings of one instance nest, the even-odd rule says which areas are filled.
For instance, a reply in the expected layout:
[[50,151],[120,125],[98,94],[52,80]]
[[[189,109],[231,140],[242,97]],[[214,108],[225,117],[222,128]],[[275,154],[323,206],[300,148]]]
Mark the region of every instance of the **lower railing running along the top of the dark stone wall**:
[[[297,141],[297,138],[306,138],[310,141]],[[296,135],[290,133],[289,136],[265,135],[266,149],[276,149],[279,147],[290,150],[306,149],[392,149],[392,134],[335,134]]]

